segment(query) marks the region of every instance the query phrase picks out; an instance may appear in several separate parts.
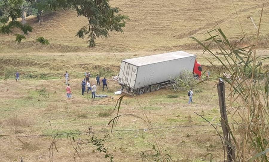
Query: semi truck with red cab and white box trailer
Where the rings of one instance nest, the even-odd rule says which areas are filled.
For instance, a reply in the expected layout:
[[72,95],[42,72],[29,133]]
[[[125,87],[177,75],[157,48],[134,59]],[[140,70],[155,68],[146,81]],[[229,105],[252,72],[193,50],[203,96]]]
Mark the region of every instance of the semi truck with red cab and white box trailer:
[[177,51],[131,58],[121,61],[118,83],[122,90],[141,95],[166,86],[184,70],[192,71],[196,79],[201,77],[195,54]]

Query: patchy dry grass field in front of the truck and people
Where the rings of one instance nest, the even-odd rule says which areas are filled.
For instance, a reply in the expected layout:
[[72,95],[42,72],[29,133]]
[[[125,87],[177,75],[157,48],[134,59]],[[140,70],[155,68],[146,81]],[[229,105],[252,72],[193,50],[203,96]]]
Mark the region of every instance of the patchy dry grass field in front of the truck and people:
[[[93,83],[94,80],[92,79]],[[62,132],[107,131],[96,133],[94,136],[102,138],[110,134],[108,121],[115,116],[100,117],[100,113],[110,112],[119,96],[113,94],[120,88],[116,81],[108,81],[109,90],[103,92],[98,87],[98,94],[107,94],[106,99],[92,101],[90,95],[81,96],[80,80],[70,81],[73,90],[71,102],[65,99],[65,84],[63,80],[13,80],[1,81],[1,134],[11,136],[46,135]],[[45,87],[49,97],[39,95]],[[221,143],[217,134],[207,122],[195,115],[193,111],[202,114],[206,119],[218,123],[218,99],[216,89],[212,92],[207,87],[214,87],[213,82],[207,82],[195,89],[195,104],[188,105],[186,92],[175,93],[172,90],[162,89],[154,93],[138,96],[138,100],[149,116],[154,127],[183,126],[182,128],[156,129],[163,149],[167,147],[174,160],[200,161],[209,152],[216,159],[221,159]],[[178,98],[169,99],[167,95],[177,94]],[[111,97],[114,97],[113,99]],[[142,116],[132,97],[123,99],[120,114],[131,113]],[[207,125],[196,126],[195,125]],[[185,127],[193,126],[193,127]],[[118,121],[116,130],[145,129],[143,121],[130,116],[124,116]],[[80,142],[87,136],[71,135]],[[25,161],[49,161],[49,146],[53,138],[48,137],[19,137],[26,144],[16,138],[2,138],[0,161],[18,161],[23,157]],[[58,139],[58,137],[57,137]],[[116,131],[110,135],[105,146],[109,153],[114,155],[115,161],[141,161],[141,153],[145,152],[151,159],[155,154],[152,151],[153,137],[149,131]],[[68,143],[66,136],[59,136],[56,143],[59,153],[54,154],[54,161],[73,161],[74,149]],[[93,152],[91,144],[82,145],[81,155],[76,161],[108,161],[102,153]],[[208,160],[208,157],[205,158]]]

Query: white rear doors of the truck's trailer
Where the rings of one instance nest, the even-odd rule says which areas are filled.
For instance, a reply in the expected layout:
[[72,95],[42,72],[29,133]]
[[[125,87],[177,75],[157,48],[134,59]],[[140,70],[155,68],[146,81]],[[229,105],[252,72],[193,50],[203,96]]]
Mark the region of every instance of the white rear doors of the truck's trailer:
[[120,65],[119,83],[134,88],[136,74],[137,66],[122,61]]

